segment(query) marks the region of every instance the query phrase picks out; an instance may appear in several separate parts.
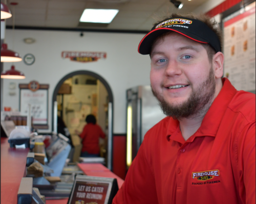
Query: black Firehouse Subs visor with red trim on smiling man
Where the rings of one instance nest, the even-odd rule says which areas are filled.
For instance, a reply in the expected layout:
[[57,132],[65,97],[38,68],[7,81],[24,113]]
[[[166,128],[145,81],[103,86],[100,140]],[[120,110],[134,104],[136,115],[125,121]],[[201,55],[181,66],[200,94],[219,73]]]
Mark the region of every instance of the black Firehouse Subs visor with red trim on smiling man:
[[150,54],[154,40],[159,35],[169,31],[174,31],[200,43],[208,43],[215,49],[216,53],[221,52],[221,42],[216,33],[201,20],[186,17],[167,18],[155,24],[140,41],[138,52],[142,55]]

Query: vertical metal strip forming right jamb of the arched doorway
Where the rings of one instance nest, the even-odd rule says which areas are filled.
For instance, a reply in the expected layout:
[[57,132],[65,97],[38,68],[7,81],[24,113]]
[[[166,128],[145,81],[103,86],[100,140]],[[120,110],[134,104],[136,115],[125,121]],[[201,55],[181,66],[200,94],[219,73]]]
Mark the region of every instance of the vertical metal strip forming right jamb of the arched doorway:
[[109,103],[108,109],[109,134],[108,134],[108,169],[112,170],[112,137],[113,137],[113,104]]

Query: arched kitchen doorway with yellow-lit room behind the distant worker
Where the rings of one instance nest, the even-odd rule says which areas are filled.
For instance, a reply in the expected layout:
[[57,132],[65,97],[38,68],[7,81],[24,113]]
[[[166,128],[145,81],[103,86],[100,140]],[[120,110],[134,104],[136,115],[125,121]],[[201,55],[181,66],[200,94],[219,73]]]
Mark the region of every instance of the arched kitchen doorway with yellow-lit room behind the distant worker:
[[113,94],[108,83],[94,72],[75,71],[59,81],[53,93],[53,108],[54,101],[58,104],[58,116],[71,135],[75,135],[75,130],[82,132],[87,115],[96,117],[106,135],[106,139],[99,142],[100,156],[112,170]]

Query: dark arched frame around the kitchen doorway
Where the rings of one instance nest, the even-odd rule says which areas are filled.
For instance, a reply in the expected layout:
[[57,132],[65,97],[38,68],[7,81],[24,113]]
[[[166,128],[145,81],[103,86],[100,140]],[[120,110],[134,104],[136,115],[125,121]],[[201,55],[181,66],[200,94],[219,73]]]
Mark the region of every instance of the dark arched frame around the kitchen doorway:
[[[106,91],[108,92],[108,154],[107,154],[107,167],[112,170],[112,152],[113,152],[113,93],[112,90],[108,84],[100,75],[97,73],[94,73],[92,71],[87,70],[78,70],[71,72],[67,74],[65,77],[63,77],[58,84],[56,85],[53,97],[52,97],[52,113],[54,113],[54,102],[57,100],[58,91],[61,87],[61,85],[68,79],[74,77],[75,75],[89,75],[97,80],[99,80],[103,86],[105,87]],[[54,114],[52,114],[52,129],[54,129]]]

